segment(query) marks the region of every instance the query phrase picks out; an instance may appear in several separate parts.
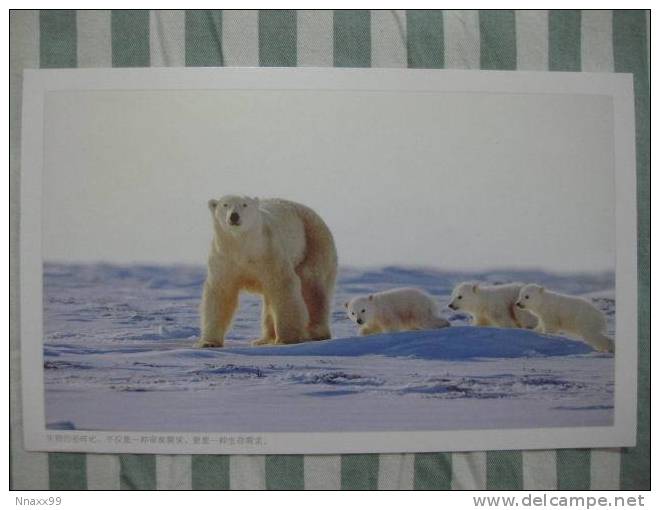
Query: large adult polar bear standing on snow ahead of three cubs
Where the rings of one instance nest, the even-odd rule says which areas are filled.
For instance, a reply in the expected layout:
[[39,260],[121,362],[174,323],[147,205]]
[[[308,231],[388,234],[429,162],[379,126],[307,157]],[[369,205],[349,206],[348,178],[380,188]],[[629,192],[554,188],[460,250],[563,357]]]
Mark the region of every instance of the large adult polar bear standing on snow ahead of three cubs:
[[309,207],[227,195],[209,200],[214,237],[201,304],[200,347],[222,347],[241,290],[263,295],[261,338],[330,338],[337,276],[332,234]]

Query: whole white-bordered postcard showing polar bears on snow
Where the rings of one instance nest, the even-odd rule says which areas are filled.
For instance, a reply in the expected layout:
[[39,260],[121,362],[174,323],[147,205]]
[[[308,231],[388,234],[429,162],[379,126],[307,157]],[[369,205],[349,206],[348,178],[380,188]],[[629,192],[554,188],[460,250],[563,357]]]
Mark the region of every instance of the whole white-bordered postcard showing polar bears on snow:
[[625,74],[25,72],[29,450],[635,443]]

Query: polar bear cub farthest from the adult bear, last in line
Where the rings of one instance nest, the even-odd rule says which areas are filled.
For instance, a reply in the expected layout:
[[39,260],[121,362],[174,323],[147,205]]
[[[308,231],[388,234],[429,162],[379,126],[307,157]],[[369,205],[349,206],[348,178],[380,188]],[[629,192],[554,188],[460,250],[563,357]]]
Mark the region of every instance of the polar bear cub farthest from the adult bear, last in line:
[[531,284],[520,289],[516,307],[529,310],[538,317],[537,330],[540,332],[572,333],[598,351],[614,352],[614,341],[604,333],[605,317],[586,299]]

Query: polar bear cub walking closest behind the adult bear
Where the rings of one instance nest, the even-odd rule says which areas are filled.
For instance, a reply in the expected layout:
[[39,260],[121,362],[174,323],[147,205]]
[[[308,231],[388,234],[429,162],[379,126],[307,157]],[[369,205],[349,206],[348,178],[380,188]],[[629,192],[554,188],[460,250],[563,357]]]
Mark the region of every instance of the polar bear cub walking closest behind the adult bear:
[[440,317],[433,298],[414,288],[355,297],[344,306],[348,317],[360,326],[361,335],[449,326],[449,322]]

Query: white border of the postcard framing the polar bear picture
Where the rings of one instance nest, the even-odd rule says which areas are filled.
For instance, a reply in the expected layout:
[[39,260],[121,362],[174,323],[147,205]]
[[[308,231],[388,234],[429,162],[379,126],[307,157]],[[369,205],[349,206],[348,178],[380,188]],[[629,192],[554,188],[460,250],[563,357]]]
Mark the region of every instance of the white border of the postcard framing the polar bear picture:
[[[47,430],[43,379],[41,174],[44,98],[57,90],[373,90],[585,94],[614,104],[614,424],[452,431],[172,433]],[[113,453],[364,453],[634,446],[637,423],[637,201],[632,75],[401,69],[57,69],[24,72],[20,325],[26,450]]]

